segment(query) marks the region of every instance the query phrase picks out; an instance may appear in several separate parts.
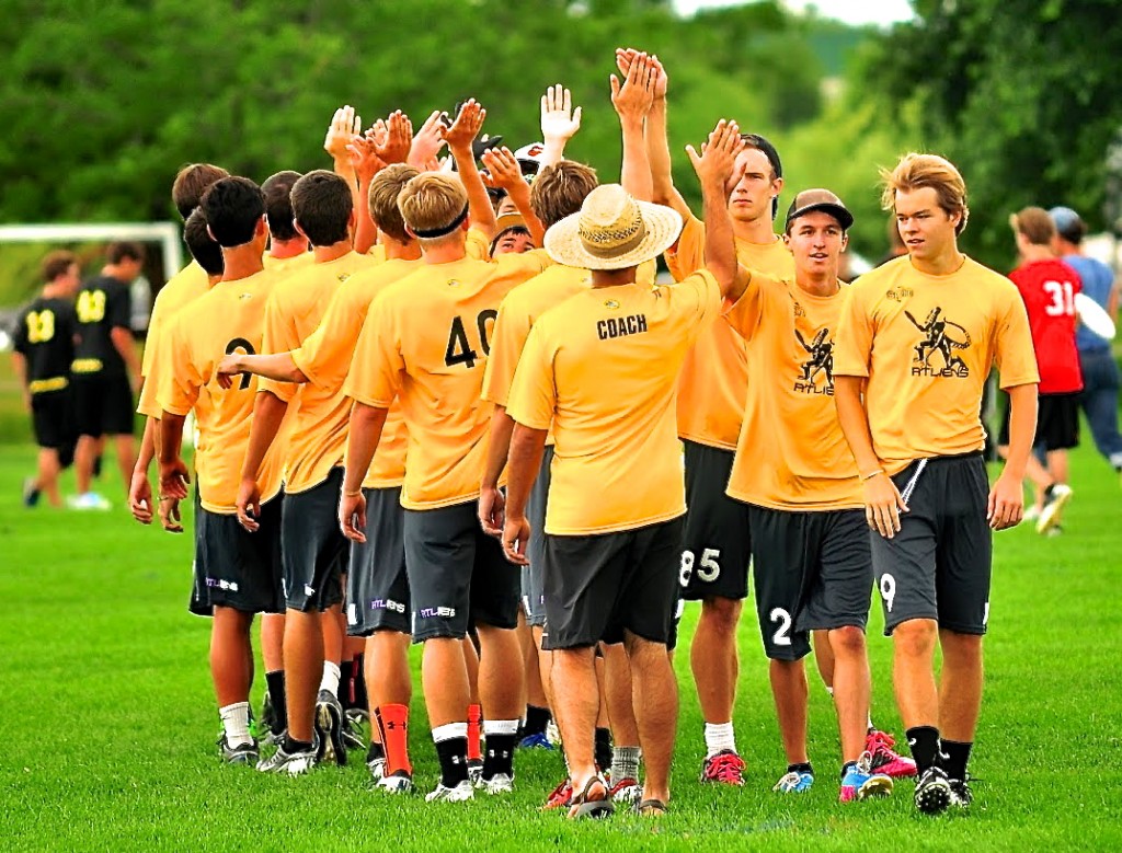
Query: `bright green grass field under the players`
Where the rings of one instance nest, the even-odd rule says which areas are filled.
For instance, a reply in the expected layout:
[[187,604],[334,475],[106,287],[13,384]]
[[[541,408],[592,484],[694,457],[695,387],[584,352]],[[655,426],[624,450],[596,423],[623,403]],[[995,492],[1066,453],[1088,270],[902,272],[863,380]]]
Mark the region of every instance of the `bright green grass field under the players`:
[[[19,506],[34,448],[0,445],[0,846],[18,850],[947,850],[1122,845],[1119,694],[1120,484],[1089,448],[1073,457],[1066,532],[997,536],[986,680],[969,815],[927,818],[911,784],[889,800],[836,803],[833,708],[811,671],[808,795],[771,792],[784,762],[754,619],[742,624],[737,740],[742,790],[702,788],[701,718],[680,653],[682,712],[672,813],[577,825],[536,807],[560,780],[555,754],[517,757],[517,792],[465,807],[389,799],[362,762],[279,779],[224,768],[206,665],[209,624],[190,616],[191,544],[137,526],[114,466],[118,508],[80,514]],[[72,485],[68,482],[68,485]],[[684,645],[696,612],[689,611]],[[900,733],[890,643],[874,608],[874,718]],[[414,650],[415,652],[416,650]],[[257,705],[264,689],[255,685]],[[436,763],[420,690],[416,776]]]

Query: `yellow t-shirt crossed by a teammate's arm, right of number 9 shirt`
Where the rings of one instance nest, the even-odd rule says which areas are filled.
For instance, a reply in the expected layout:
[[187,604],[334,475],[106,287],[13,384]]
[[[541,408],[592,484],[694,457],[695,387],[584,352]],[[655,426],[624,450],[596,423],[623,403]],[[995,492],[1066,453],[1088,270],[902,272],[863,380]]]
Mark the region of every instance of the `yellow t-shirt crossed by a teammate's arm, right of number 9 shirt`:
[[[286,276],[273,289],[265,309],[261,351],[279,353],[298,349],[320,325],[340,286],[373,265],[367,256],[347,252]],[[300,408],[287,436],[285,492],[296,494],[322,483],[331,469],[342,464],[347,445],[350,400],[341,384],[325,388],[263,379],[258,390],[272,391],[285,402],[298,400]]]

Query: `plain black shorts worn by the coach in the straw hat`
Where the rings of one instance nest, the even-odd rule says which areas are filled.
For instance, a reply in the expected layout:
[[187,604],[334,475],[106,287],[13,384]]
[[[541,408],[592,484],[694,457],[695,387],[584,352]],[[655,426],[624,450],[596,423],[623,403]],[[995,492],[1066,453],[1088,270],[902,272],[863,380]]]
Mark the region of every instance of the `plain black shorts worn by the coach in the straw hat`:
[[545,649],[668,642],[678,608],[681,518],[596,536],[545,537]]

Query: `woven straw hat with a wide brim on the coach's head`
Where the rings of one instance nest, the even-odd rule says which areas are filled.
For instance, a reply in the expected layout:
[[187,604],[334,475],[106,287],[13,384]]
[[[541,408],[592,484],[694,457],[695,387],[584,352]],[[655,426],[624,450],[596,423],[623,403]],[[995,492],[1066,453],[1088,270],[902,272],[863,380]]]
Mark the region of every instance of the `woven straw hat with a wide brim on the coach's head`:
[[604,184],[579,213],[545,232],[545,251],[558,263],[583,269],[637,267],[669,249],[682,230],[670,207],[633,198],[619,184]]

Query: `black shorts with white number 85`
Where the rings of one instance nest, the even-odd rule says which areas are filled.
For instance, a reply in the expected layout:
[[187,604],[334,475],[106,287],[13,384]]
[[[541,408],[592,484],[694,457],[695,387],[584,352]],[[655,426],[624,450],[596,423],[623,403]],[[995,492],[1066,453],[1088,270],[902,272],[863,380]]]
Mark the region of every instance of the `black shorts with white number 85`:
[[686,445],[686,532],[682,541],[682,597],[732,599],[748,594],[752,539],[745,504],[725,494],[733,451],[697,442]]

